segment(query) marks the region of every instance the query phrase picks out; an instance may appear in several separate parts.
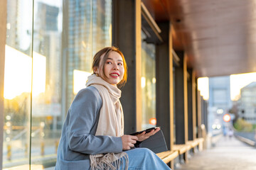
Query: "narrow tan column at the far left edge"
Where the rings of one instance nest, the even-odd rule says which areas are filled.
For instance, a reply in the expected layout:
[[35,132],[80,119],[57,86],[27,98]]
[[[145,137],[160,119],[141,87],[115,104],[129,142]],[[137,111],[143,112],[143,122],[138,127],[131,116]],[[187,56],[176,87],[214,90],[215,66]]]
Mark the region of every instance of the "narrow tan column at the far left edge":
[[[3,153],[4,136],[4,60],[6,45],[7,1],[0,1],[0,153]],[[0,169],[2,169],[3,154],[0,154]]]

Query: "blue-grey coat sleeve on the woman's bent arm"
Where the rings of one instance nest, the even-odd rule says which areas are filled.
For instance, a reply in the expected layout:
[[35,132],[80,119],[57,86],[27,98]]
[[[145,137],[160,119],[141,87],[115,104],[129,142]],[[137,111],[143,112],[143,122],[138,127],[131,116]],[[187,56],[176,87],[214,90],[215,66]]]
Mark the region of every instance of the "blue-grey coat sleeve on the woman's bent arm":
[[[98,95],[98,96],[97,96]],[[91,134],[102,101],[100,94],[82,89],[75,97],[69,113],[68,145],[71,150],[83,154],[122,152],[121,137],[95,136]]]

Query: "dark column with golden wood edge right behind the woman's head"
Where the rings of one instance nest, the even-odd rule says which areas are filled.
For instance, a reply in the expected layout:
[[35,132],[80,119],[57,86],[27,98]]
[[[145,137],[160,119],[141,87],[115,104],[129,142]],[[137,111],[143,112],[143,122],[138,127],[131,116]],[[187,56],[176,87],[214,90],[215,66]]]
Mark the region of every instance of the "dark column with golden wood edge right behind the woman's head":
[[124,134],[141,130],[142,124],[142,12],[140,0],[113,0],[112,45],[119,47],[128,67],[127,84],[121,89]]

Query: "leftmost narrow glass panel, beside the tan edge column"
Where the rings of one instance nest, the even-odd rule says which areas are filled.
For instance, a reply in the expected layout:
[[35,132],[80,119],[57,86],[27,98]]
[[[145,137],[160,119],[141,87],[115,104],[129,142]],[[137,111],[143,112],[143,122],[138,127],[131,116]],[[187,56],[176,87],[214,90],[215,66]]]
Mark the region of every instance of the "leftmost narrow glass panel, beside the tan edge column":
[[[3,168],[29,167],[33,2],[7,1]],[[18,168],[17,168],[18,169]]]

